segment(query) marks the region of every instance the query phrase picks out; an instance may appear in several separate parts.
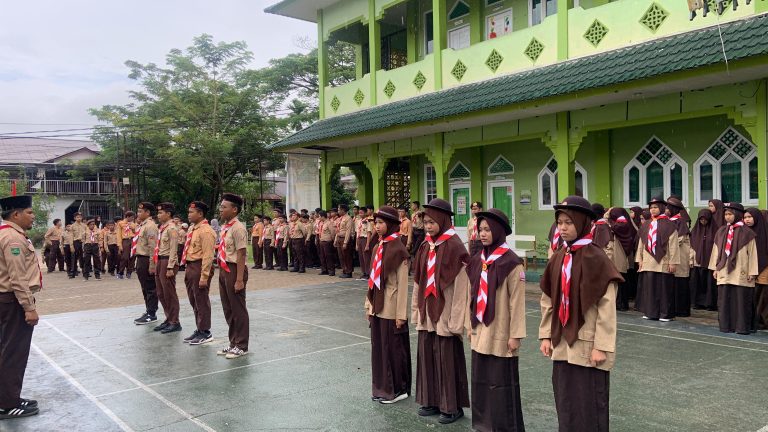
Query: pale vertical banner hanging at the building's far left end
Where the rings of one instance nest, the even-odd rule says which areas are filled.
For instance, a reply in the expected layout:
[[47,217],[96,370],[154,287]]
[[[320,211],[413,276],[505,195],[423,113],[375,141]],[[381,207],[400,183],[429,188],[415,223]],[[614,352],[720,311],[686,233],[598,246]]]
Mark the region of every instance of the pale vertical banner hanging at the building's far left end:
[[287,172],[287,209],[309,209],[320,207],[320,158],[315,155],[288,154],[285,162]]

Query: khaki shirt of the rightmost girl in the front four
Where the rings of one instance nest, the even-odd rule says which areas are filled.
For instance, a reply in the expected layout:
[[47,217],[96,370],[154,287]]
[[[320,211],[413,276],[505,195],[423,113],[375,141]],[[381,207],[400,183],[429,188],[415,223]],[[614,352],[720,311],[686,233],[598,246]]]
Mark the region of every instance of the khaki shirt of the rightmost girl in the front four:
[[[584,325],[579,330],[578,340],[569,346],[565,337],[561,338],[560,343],[552,347],[552,360],[593,367],[590,360],[594,348],[605,352],[606,356],[605,363],[597,366],[597,369],[609,371],[613,368],[616,362],[616,290],[616,283],[611,282],[603,298],[584,315]],[[553,313],[552,299],[542,293],[539,339],[552,338]]]

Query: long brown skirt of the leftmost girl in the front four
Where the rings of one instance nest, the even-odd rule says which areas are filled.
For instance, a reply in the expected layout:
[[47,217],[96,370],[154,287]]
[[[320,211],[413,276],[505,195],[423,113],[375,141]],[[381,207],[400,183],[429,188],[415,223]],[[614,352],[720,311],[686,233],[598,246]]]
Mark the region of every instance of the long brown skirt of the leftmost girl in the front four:
[[408,324],[397,328],[395,320],[372,316],[371,377],[372,394],[391,400],[411,393],[411,341]]

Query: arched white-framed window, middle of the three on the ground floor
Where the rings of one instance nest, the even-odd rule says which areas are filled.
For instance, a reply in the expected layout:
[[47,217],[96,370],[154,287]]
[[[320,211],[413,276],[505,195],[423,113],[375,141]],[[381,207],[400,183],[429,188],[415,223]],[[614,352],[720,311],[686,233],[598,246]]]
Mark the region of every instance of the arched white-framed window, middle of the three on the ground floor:
[[645,205],[655,196],[677,195],[688,202],[688,165],[652,137],[624,167],[624,205]]

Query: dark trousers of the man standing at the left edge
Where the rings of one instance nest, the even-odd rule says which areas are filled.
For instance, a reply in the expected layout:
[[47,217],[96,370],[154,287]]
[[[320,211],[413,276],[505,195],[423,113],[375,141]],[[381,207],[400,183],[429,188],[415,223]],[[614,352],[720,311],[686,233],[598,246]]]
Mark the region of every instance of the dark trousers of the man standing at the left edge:
[[19,406],[34,327],[13,293],[0,293],[0,408]]

